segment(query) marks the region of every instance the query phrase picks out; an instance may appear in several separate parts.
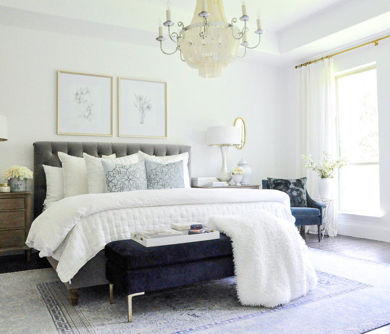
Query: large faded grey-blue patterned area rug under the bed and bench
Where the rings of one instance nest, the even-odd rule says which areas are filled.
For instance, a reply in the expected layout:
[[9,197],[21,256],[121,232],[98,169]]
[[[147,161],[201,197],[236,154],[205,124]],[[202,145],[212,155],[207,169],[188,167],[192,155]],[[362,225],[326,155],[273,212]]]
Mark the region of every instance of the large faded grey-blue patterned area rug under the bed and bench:
[[310,260],[317,288],[287,305],[244,307],[226,278],[134,297],[132,323],[126,297],[110,305],[108,286],[81,289],[73,307],[52,269],[2,274],[0,333],[357,334],[390,323],[390,265],[313,249]]

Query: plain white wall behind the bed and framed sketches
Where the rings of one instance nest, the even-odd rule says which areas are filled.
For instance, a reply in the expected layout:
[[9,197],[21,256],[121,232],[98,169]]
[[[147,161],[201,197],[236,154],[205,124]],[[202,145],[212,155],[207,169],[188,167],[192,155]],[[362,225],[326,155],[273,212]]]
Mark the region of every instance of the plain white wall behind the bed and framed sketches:
[[[202,79],[177,54],[163,55],[157,42],[147,48],[10,26],[0,26],[0,40],[0,114],[8,117],[9,132],[9,140],[0,143],[0,171],[12,165],[32,169],[35,141],[101,141],[191,145],[193,176],[214,176],[221,157],[218,148],[206,146],[206,129],[242,117],[247,144],[229,149],[228,167],[246,158],[254,169],[252,184],[288,173],[286,84],[280,69],[239,59],[222,77]],[[113,137],[56,134],[57,70],[114,76]],[[168,83],[167,139],[117,137],[118,76]]]

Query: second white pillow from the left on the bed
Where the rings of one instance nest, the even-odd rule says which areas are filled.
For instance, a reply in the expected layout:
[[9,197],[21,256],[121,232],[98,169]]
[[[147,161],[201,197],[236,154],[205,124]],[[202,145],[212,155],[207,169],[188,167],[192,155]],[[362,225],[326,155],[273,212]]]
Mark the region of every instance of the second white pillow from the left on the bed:
[[[74,157],[63,152],[58,152],[58,157],[61,160],[64,173],[64,197],[88,194],[87,168],[84,158]],[[116,154],[103,155],[103,157],[114,159]]]

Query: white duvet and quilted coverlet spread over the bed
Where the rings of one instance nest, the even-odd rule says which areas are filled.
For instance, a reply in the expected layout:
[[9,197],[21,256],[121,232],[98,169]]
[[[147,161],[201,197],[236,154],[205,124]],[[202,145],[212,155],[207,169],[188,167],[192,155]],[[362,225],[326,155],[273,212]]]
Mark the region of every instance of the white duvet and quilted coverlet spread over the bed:
[[130,239],[138,229],[171,223],[207,223],[214,215],[264,209],[293,223],[290,199],[277,190],[169,189],[88,194],[65,198],[32,223],[26,244],[40,257],[58,260],[63,282],[111,241]]

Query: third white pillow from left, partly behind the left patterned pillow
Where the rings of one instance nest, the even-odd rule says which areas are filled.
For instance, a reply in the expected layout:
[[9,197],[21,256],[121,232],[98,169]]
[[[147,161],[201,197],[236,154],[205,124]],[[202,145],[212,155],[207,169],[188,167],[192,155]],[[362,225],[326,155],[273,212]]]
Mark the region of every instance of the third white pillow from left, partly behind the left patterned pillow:
[[[132,165],[139,162],[139,154],[134,153],[120,158],[96,158],[87,153],[82,154],[85,160],[85,166],[87,168],[88,177],[88,193],[89,194],[102,194],[105,188],[105,176],[102,161],[109,161],[115,164]],[[103,155],[104,157],[104,155]]]

